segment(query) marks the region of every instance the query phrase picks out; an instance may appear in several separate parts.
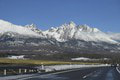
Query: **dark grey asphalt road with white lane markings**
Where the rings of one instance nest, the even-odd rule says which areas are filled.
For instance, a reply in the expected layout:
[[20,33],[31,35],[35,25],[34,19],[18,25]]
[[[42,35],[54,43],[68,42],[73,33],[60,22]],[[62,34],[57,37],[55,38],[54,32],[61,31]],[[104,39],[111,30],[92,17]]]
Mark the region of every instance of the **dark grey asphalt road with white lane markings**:
[[120,80],[120,71],[116,67],[85,68],[37,74],[19,80]]

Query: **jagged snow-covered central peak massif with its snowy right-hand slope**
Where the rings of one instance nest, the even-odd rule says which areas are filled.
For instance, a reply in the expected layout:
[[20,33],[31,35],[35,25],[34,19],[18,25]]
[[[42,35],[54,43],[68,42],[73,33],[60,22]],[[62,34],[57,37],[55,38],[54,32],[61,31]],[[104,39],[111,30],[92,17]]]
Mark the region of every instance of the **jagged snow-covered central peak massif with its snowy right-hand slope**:
[[97,28],[90,28],[88,25],[76,25],[74,22],[64,24],[57,28],[51,28],[43,32],[49,38],[55,38],[58,41],[67,41],[70,39],[84,40],[84,41],[102,41],[108,43],[117,43],[111,39],[107,34],[101,32]]

